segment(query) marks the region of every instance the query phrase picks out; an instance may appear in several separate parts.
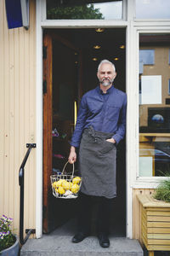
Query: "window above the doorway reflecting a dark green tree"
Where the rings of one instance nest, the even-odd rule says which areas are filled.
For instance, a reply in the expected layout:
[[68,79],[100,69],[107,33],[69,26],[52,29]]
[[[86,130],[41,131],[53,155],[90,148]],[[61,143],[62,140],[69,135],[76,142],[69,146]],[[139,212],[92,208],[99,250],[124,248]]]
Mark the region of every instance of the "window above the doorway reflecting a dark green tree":
[[48,0],[49,20],[122,19],[122,1]]

